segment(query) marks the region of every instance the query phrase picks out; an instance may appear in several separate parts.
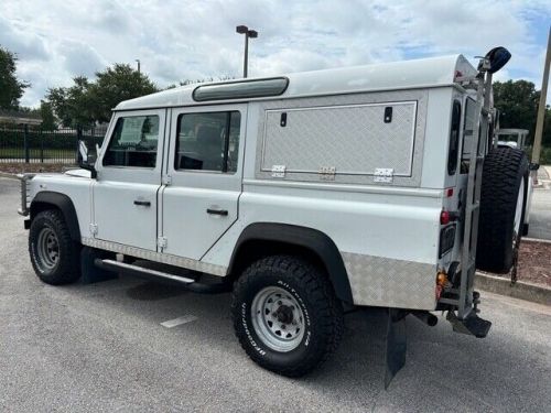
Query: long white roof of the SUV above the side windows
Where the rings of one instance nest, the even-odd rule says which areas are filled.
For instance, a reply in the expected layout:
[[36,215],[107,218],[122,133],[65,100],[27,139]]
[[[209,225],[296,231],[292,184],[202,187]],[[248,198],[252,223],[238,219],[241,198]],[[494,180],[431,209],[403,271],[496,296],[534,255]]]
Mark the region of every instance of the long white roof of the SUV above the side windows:
[[[463,55],[292,73],[284,75],[289,78],[289,87],[280,96],[269,97],[268,99],[451,86],[454,84],[457,75],[456,72],[461,72],[464,77],[476,75],[476,69]],[[115,110],[199,105],[193,99],[193,90],[198,86],[262,78],[268,79],[272,77],[181,86],[122,101],[117,105]],[[261,99],[267,98],[224,100],[224,102]],[[220,100],[213,100],[210,102],[219,104]],[[201,105],[205,104],[208,105],[209,102],[201,102]]]

